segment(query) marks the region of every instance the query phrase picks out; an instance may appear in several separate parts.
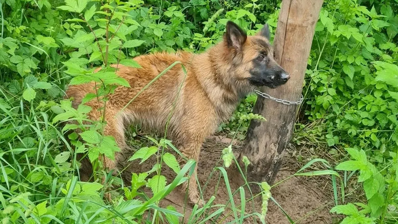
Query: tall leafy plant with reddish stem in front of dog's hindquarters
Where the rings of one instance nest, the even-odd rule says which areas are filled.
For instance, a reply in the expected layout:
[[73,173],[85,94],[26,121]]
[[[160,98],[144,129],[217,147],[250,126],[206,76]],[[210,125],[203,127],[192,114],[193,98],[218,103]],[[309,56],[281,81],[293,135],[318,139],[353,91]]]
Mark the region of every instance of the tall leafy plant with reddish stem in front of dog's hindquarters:
[[[103,124],[106,123],[103,119],[105,116],[102,116],[98,122],[88,121],[85,114],[90,112],[91,108],[84,103],[95,98],[103,102],[100,110],[104,115],[103,108],[105,108],[107,96],[112,94],[117,86],[130,87],[125,79],[116,75],[116,68],[110,65],[139,67],[133,59],[126,59],[125,52],[144,42],[130,39],[129,36],[140,26],[137,21],[131,19],[129,12],[137,9],[142,3],[142,1],[108,1],[100,6],[97,1],[67,0],[65,6],[58,7],[76,15],[76,18],[68,19],[67,22],[86,24],[86,29],[79,29],[76,33],[72,33],[71,37],[60,39],[65,48],[78,49],[70,53],[68,61],[63,62],[67,68],[65,73],[73,77],[69,84],[94,82],[96,91],[87,94],[77,110],[72,108],[70,101],[62,101],[60,107],[64,112],[55,116],[53,122],[75,120],[74,124],[66,124],[63,131],[76,129],[81,131],[80,137],[85,143],[78,141],[76,133],[68,137],[76,147],[76,153],[87,153],[94,169],[101,168],[99,157],[106,156],[114,159],[115,151],[120,151],[120,149],[112,136],[102,135]],[[100,71],[95,72],[96,65],[101,65]]]

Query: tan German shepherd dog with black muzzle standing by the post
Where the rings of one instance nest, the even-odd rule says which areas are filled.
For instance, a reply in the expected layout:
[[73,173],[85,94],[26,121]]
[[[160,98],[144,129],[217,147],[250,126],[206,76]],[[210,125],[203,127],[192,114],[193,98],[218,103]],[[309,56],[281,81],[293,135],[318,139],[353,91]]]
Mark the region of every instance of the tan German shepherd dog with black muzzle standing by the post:
[[[205,138],[230,118],[244,96],[259,86],[277,88],[290,78],[274,59],[267,24],[256,35],[247,36],[238,25],[229,21],[223,40],[204,53],[153,53],[136,57],[135,61],[140,68],[117,65],[117,75],[126,79],[131,88],[117,87],[108,96],[104,134],[113,136],[122,150],[129,149],[125,143],[126,124],[140,124],[144,129],[161,132],[174,109],[167,137],[185,157],[196,161]],[[186,76],[181,64],[177,64],[122,110],[146,84],[176,61],[185,66]],[[95,88],[94,83],[71,85],[66,97],[73,97],[72,105],[77,108],[86,94],[95,93]],[[100,119],[103,114],[98,108],[103,102],[95,98],[86,105],[92,107],[88,117]],[[115,161],[107,157],[101,161],[106,169],[115,169],[118,157],[117,153]],[[197,168],[183,189],[188,188],[191,203],[203,205],[196,174]]]

